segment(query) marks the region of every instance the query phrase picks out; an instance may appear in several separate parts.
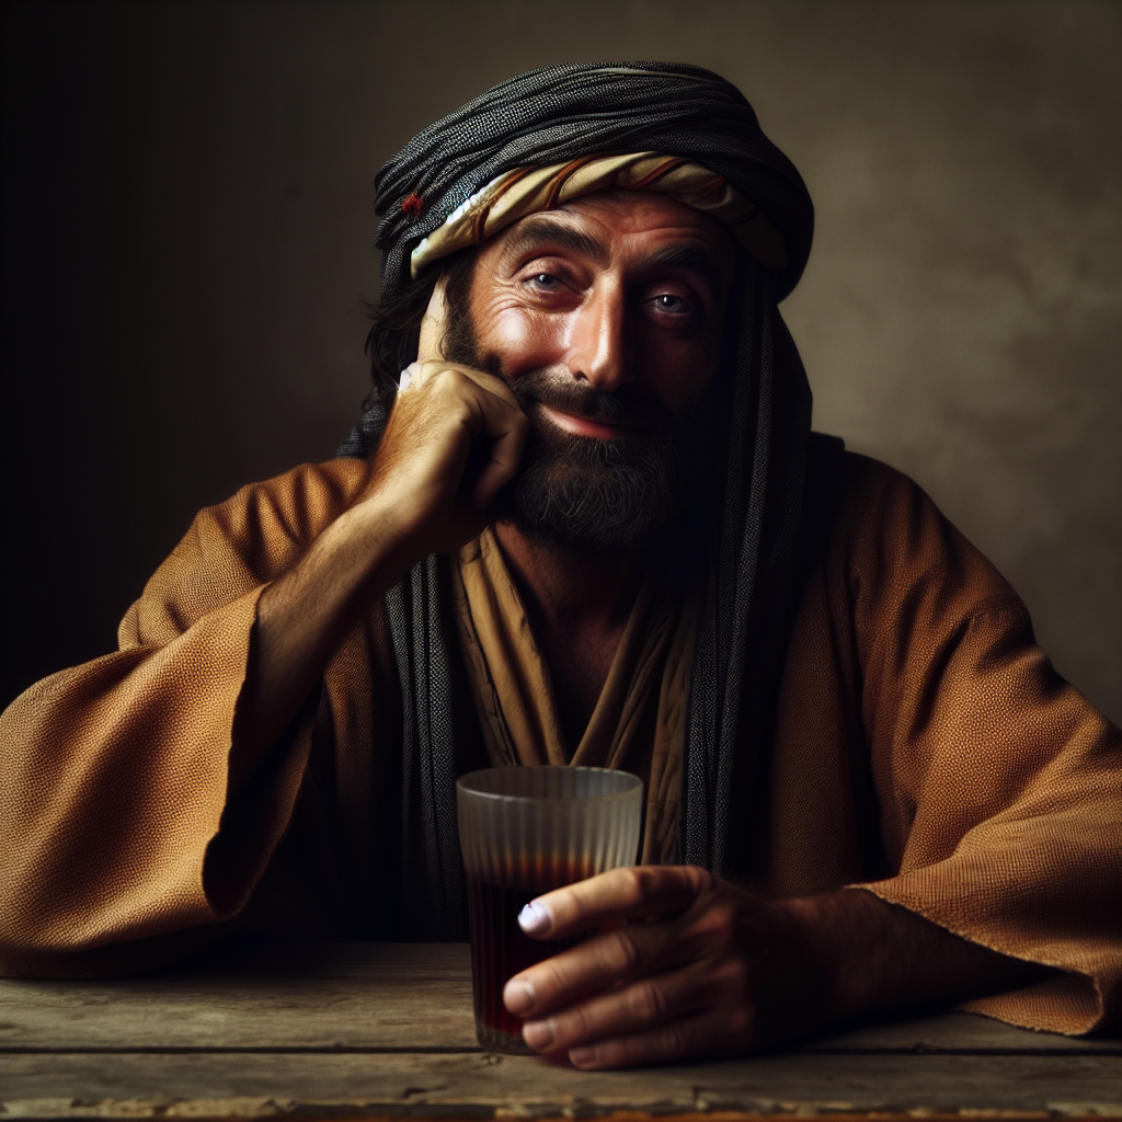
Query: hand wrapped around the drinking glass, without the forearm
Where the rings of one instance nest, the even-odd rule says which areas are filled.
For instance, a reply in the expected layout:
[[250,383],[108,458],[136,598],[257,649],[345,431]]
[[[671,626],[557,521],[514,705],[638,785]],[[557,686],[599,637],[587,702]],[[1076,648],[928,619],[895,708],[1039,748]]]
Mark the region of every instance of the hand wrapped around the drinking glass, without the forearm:
[[504,991],[525,1020],[526,1043],[568,1052],[577,1067],[743,1054],[828,1018],[829,972],[798,909],[702,868],[603,873],[539,896],[522,926],[546,939],[614,928],[523,971]]

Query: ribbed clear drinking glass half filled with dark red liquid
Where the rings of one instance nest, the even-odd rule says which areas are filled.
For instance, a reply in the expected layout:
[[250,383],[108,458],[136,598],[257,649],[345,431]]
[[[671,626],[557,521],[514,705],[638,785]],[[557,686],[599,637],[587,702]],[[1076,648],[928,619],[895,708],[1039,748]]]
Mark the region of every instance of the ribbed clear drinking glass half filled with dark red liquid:
[[603,767],[493,767],[457,780],[456,803],[476,1036],[490,1051],[530,1055],[522,1021],[503,1004],[503,986],[581,937],[531,939],[518,912],[551,889],[635,864],[643,781]]

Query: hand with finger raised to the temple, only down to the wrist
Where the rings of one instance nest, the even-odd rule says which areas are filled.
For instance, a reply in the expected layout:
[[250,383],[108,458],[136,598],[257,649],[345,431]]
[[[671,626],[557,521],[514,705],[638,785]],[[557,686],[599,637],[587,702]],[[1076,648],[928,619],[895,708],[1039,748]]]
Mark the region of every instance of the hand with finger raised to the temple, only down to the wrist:
[[[444,313],[441,280],[364,499],[376,504],[414,561],[458,549],[484,528],[486,508],[518,469],[528,431],[505,381],[443,358]],[[486,461],[466,480],[473,442]]]

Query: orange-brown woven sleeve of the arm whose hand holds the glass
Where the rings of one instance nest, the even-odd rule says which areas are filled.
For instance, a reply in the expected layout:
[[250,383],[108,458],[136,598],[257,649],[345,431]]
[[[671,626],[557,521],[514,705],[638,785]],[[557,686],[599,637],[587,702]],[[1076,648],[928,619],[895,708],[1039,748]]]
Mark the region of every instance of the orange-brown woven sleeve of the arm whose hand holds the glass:
[[854,459],[848,596],[896,871],[864,888],[1064,972],[965,1008],[1068,1033],[1110,1023],[1122,1005],[1122,735],[1056,673],[1024,605],[930,499]]

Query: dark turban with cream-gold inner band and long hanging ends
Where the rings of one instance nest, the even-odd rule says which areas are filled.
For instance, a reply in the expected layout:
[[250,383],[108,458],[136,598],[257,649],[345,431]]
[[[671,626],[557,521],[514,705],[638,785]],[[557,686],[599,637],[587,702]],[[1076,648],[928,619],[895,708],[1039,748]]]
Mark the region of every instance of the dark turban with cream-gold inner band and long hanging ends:
[[[664,190],[708,210],[753,259],[728,312],[734,369],[723,380],[726,429],[715,434],[723,450],[715,516],[692,558],[705,596],[680,839],[684,862],[753,876],[765,828],[753,807],[765,802],[800,567],[828,524],[840,451],[840,442],[810,438],[809,386],[775,306],[810,251],[813,211],[799,173],[743,94],[709,71],[670,63],[531,71],[429,126],[378,173],[383,298],[508,221],[604,185]],[[371,410],[339,454],[366,454],[385,421]],[[414,939],[466,931],[454,784],[470,725],[460,714],[471,707],[458,696],[443,563],[424,559],[386,594],[403,702],[402,934]]]

